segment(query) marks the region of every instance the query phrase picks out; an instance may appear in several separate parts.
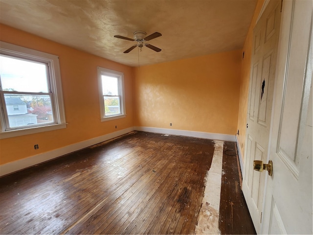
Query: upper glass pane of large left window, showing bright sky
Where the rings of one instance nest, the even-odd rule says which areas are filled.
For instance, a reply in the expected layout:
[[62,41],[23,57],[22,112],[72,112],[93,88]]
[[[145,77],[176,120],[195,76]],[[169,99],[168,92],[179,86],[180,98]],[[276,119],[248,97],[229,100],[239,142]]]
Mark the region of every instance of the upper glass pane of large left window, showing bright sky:
[[2,91],[49,92],[46,64],[0,55]]

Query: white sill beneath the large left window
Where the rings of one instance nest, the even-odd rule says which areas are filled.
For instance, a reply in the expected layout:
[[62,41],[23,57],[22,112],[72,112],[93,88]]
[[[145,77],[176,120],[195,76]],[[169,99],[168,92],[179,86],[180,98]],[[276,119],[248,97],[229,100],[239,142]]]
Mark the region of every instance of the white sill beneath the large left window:
[[40,132],[54,131],[58,129],[64,129],[66,127],[67,127],[67,123],[61,123],[61,124],[53,124],[53,125],[48,125],[48,126],[32,127],[32,128],[27,128],[27,129],[3,131],[3,132],[0,132],[0,140],[17,137],[17,136],[30,135],[30,134],[40,133]]

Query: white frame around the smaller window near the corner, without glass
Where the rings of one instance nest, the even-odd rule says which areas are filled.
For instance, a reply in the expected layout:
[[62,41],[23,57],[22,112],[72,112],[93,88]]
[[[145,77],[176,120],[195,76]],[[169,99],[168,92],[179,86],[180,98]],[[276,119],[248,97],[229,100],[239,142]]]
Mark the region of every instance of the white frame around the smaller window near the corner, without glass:
[[[124,93],[124,73],[114,70],[109,70],[102,67],[97,67],[98,70],[98,88],[99,88],[99,102],[100,102],[100,117],[101,121],[108,121],[114,120],[118,118],[125,118],[126,117],[126,109],[125,109],[125,93]],[[111,76],[117,77],[118,79],[118,88],[119,88],[119,95],[120,95],[120,109],[121,113],[114,116],[106,116],[105,115],[105,108],[104,108],[104,95],[102,91],[102,78],[101,76]]]

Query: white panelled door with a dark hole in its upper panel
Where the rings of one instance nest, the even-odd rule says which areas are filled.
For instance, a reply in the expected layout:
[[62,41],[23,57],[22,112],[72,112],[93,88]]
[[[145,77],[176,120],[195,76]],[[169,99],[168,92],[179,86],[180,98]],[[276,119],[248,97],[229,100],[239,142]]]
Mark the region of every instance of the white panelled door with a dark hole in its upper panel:
[[265,174],[253,161],[266,161],[280,26],[280,0],[269,1],[253,31],[243,193],[256,232],[261,232]]

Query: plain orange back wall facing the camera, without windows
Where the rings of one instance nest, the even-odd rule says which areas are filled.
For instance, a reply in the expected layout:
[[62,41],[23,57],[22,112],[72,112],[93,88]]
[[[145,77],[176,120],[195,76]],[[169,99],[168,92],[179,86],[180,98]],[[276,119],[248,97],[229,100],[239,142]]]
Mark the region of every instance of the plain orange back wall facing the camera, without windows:
[[135,125],[235,135],[241,53],[134,68]]

